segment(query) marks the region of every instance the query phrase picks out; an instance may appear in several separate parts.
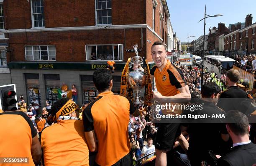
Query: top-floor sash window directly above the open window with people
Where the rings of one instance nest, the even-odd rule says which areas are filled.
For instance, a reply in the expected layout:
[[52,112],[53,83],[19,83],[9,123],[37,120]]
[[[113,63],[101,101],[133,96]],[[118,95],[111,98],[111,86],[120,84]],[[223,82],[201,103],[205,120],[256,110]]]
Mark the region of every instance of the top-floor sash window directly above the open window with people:
[[96,0],[97,24],[112,24],[111,0]]

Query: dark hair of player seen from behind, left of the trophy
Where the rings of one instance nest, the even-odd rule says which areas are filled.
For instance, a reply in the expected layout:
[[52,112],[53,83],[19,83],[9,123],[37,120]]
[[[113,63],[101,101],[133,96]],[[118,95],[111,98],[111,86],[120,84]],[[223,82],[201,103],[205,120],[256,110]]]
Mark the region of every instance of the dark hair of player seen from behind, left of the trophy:
[[109,69],[97,69],[93,73],[93,83],[99,92],[104,92],[110,87],[112,74]]

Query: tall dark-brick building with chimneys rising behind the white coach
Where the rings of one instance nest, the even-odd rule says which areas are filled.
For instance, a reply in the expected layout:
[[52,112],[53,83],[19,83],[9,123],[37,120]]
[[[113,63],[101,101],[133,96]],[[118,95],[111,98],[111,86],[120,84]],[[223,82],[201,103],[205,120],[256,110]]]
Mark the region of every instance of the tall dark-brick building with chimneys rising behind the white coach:
[[218,55],[219,52],[219,36],[223,34],[228,34],[229,30],[225,27],[225,23],[219,23],[218,28],[212,27],[212,30],[209,29],[209,35],[207,39],[207,49],[209,50],[210,55]]

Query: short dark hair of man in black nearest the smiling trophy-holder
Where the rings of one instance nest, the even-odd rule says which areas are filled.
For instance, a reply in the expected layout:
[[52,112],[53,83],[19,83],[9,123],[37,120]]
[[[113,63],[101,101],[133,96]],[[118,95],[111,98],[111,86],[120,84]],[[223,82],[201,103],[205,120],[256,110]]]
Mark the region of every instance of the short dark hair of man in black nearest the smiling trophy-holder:
[[213,82],[207,82],[203,84],[201,93],[202,93],[202,97],[209,98],[212,96],[212,94],[220,93],[220,87]]

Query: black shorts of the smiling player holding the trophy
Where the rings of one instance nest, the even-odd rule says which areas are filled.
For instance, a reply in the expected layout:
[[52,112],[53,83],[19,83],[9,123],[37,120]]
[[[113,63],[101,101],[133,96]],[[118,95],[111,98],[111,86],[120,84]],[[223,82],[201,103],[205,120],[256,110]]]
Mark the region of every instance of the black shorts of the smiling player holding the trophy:
[[180,124],[161,123],[156,134],[155,147],[158,150],[169,151],[173,149],[175,139],[181,134]]

